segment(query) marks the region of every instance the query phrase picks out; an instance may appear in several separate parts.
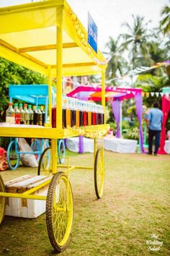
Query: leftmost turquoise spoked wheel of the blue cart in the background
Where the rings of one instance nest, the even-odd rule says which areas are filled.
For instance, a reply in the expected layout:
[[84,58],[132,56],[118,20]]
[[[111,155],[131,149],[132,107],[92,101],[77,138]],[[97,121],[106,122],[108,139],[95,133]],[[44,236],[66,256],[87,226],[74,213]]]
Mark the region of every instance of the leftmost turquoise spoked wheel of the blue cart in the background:
[[16,151],[19,152],[18,143],[15,144],[14,140],[12,140],[9,143],[9,146],[7,149],[7,162],[11,170],[15,170],[19,166],[20,157],[19,157],[19,154],[16,153]]

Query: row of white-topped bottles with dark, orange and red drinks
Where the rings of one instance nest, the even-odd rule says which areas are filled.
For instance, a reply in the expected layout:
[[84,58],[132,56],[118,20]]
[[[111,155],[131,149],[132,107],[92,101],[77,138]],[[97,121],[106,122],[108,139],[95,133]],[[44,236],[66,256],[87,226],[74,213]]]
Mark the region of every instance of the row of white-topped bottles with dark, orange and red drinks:
[[[63,128],[104,124],[104,108],[96,103],[63,96]],[[52,127],[56,127],[56,107],[52,108]]]

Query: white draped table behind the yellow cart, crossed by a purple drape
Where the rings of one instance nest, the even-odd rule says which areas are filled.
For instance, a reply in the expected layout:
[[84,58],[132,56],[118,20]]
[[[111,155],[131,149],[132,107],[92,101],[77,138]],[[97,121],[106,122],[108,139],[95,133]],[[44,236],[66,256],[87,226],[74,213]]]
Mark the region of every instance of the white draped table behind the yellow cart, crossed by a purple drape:
[[[94,152],[94,140],[83,137],[84,152]],[[66,147],[73,152],[79,152],[79,137],[71,137],[66,139]]]

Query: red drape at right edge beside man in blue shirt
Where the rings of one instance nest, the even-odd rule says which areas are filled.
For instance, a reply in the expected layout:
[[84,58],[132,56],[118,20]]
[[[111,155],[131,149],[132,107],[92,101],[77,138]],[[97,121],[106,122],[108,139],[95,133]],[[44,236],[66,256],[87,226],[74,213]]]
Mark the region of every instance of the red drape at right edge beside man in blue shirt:
[[[159,153],[165,153],[164,151],[164,145],[166,140],[166,120],[168,119],[169,113],[170,113],[170,88],[163,88],[162,93],[166,93],[162,97],[162,111],[164,114],[163,122],[162,122],[162,130],[161,130],[161,147]],[[167,96],[167,93],[169,93],[169,96]]]

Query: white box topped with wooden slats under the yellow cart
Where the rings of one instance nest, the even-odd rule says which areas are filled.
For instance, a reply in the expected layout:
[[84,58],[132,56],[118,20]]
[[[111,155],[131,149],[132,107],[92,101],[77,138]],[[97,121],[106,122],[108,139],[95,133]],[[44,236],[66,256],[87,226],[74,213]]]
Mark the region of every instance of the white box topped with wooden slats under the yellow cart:
[[[28,189],[36,187],[42,182],[51,179],[50,176],[24,175],[5,183],[6,192],[23,193]],[[38,189],[32,195],[47,195],[48,185]],[[45,213],[45,200],[32,200],[14,197],[6,197],[6,215],[22,218],[37,218]]]

